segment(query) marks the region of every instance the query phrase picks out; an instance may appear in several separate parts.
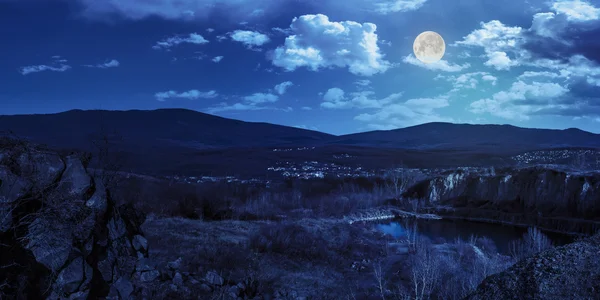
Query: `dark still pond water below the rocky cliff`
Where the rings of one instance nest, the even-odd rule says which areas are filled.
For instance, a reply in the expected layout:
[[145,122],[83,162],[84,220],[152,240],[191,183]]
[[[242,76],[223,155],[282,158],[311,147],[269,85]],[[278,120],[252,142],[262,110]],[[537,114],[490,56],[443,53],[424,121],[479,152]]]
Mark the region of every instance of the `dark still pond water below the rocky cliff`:
[[[489,224],[461,220],[429,220],[411,219],[394,220],[392,222],[378,224],[377,227],[383,233],[389,234],[396,239],[407,237],[407,229],[417,228],[418,234],[432,239],[434,242],[452,242],[457,238],[468,240],[471,235],[487,237],[494,241],[498,252],[509,253],[510,242],[520,239],[527,232],[527,228],[508,226],[502,224]],[[568,244],[573,238],[563,234],[546,232],[552,243],[556,246]]]

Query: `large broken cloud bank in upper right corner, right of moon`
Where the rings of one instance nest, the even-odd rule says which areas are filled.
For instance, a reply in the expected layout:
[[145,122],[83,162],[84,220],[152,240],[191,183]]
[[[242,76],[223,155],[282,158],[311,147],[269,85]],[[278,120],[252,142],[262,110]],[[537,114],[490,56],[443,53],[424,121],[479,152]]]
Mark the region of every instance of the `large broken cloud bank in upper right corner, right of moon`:
[[577,64],[589,68],[589,60],[575,46],[584,47],[583,40],[577,37],[580,33],[600,25],[600,8],[582,0],[555,0],[550,7],[554,12],[536,13],[530,28],[511,27],[498,20],[482,22],[480,29],[454,45],[482,48],[487,57],[485,65],[497,70],[517,66],[553,69],[557,65],[583,69]]

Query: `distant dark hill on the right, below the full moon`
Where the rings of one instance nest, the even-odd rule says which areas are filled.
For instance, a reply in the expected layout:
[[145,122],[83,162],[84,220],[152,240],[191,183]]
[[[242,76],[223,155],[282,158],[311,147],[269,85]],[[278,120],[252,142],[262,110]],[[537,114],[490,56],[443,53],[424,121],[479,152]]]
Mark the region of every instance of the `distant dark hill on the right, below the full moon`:
[[600,147],[600,134],[579,129],[532,129],[511,125],[427,123],[407,128],[343,135],[332,143],[379,148],[457,149],[493,152],[564,147]]

